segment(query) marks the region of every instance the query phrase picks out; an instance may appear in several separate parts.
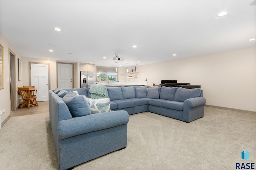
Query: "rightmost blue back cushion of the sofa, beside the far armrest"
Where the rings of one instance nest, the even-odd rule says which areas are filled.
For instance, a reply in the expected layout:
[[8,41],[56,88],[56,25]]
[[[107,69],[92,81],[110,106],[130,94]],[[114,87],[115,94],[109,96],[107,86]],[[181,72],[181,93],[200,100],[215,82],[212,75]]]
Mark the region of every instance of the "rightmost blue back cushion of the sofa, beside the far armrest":
[[199,97],[200,93],[200,88],[187,89],[178,87],[174,96],[174,101],[184,102],[187,99]]

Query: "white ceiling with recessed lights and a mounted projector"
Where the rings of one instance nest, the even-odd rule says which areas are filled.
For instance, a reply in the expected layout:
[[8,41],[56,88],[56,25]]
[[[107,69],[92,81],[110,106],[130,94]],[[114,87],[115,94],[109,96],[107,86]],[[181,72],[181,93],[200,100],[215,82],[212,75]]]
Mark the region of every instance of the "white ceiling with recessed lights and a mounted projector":
[[22,57],[128,67],[256,46],[253,1],[0,0],[0,32]]

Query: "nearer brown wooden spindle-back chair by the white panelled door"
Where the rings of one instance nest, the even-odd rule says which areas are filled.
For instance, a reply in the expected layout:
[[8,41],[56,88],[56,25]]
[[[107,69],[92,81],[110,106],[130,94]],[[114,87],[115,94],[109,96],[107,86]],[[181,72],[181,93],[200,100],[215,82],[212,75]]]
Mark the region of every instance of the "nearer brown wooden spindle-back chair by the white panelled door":
[[32,96],[31,92],[28,87],[18,87],[18,93],[22,97],[22,104],[20,105],[20,108],[22,108],[25,105],[28,105],[28,108],[30,105],[38,106],[38,103],[36,101],[36,96]]

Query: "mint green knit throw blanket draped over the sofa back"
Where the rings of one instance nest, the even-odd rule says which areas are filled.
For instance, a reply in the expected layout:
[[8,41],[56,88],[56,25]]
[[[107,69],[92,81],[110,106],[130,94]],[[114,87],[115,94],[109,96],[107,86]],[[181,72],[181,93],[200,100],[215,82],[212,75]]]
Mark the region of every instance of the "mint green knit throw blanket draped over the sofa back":
[[105,85],[91,85],[89,92],[93,99],[108,98],[108,90]]

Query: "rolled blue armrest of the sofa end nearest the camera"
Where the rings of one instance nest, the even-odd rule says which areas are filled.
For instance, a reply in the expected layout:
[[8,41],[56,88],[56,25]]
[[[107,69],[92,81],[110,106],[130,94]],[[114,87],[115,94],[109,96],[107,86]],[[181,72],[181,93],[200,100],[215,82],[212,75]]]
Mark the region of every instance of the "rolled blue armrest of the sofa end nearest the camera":
[[106,113],[97,113],[82,117],[74,117],[59,121],[58,139],[66,139],[84,133],[108,129],[127,124],[129,115],[127,111],[118,110]]

